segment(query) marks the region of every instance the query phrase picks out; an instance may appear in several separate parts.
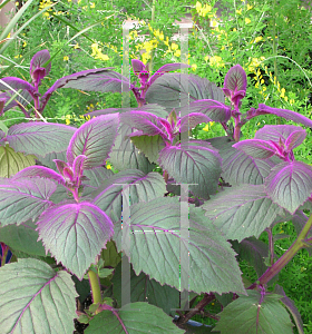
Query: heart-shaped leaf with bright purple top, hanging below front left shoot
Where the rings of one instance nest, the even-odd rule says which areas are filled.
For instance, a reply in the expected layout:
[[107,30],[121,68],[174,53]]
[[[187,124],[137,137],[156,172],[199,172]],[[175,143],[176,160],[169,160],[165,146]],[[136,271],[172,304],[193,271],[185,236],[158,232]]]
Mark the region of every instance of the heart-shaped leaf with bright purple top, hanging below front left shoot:
[[79,279],[114,234],[110,218],[90,203],[59,204],[37,222],[39,239]]

